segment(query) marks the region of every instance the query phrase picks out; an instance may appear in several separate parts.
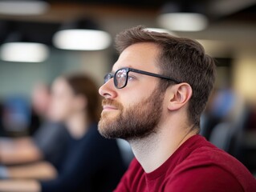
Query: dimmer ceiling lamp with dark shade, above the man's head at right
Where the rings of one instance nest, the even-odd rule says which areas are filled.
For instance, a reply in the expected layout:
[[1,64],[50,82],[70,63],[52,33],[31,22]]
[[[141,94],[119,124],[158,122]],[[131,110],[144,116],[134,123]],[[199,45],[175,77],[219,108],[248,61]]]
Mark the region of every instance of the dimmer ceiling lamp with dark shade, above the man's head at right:
[[159,15],[157,22],[168,30],[205,30],[209,22],[203,11],[204,8],[197,4],[168,3],[163,7],[163,14]]

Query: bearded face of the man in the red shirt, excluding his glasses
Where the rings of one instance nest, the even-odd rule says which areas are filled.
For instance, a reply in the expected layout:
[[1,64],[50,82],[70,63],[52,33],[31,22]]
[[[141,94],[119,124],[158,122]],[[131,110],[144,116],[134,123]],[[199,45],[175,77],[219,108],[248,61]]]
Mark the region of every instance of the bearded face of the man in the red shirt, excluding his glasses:
[[[157,55],[158,47],[152,43],[128,46],[112,73],[131,67],[160,74]],[[100,87],[104,101],[99,130],[107,138],[144,138],[157,131],[161,120],[164,93],[158,90],[160,79],[134,72],[128,75],[128,84],[123,89],[116,89],[113,79]]]

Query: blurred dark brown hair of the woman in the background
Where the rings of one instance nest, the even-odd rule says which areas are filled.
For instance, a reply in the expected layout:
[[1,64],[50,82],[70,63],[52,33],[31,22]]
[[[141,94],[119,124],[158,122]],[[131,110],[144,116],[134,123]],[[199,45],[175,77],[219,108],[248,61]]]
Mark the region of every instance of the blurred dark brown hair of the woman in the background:
[[91,122],[100,119],[100,96],[95,82],[85,74],[71,74],[63,77],[75,94],[87,99],[87,113]]

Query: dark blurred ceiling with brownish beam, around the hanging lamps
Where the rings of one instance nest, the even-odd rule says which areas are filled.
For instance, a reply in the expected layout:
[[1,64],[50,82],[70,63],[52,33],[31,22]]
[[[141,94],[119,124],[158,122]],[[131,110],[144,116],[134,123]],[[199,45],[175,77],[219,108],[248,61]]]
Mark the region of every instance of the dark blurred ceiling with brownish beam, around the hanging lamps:
[[[1,0],[0,0],[1,1]],[[0,44],[6,35],[18,30],[35,42],[51,45],[52,34],[61,24],[86,15],[115,36],[120,30],[143,24],[157,26],[156,17],[166,2],[199,4],[210,18],[209,27],[197,33],[178,33],[191,38],[234,40],[240,44],[256,43],[256,0],[47,0],[51,9],[37,16],[0,14]],[[253,45],[253,46],[254,46]],[[232,46],[234,46],[232,44]]]

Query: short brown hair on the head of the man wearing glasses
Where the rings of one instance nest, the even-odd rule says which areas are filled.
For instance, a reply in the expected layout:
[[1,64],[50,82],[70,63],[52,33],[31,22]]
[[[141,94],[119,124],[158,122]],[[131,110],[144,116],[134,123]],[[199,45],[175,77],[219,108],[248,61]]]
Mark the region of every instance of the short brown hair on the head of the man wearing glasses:
[[[174,78],[177,82],[187,82],[192,87],[189,120],[195,127],[199,127],[201,113],[215,80],[213,58],[205,54],[201,44],[192,39],[148,31],[143,26],[136,26],[118,34],[116,49],[121,53],[128,46],[140,42],[152,42],[160,47],[158,61],[161,74]],[[166,90],[169,85],[170,82],[161,82],[160,89]]]

